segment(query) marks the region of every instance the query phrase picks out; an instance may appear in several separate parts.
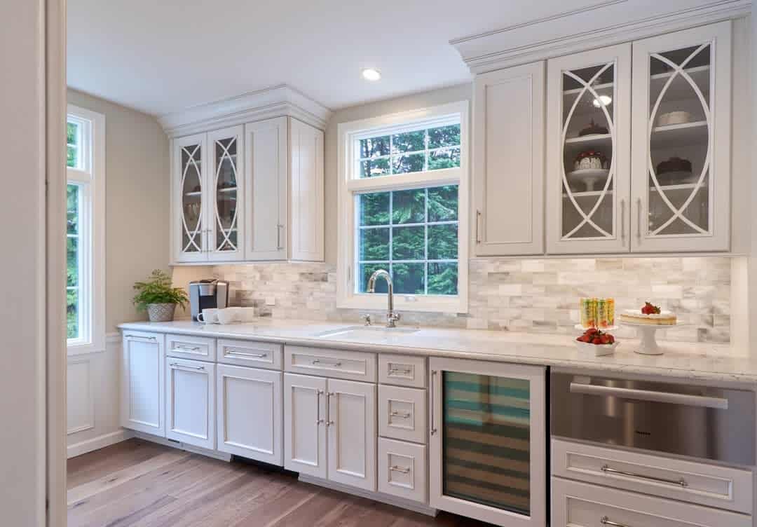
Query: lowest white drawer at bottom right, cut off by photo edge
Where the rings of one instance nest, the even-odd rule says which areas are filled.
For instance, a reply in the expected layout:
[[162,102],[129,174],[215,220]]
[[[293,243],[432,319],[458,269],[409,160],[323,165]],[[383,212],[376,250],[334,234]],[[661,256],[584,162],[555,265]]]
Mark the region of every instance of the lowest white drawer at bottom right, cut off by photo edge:
[[552,527],[752,527],[752,516],[552,479]]

